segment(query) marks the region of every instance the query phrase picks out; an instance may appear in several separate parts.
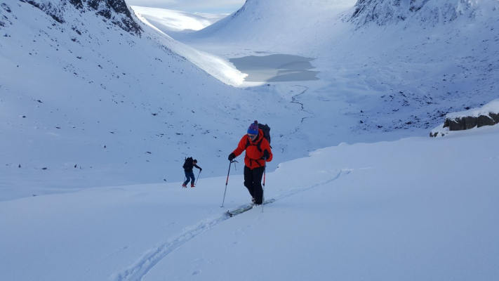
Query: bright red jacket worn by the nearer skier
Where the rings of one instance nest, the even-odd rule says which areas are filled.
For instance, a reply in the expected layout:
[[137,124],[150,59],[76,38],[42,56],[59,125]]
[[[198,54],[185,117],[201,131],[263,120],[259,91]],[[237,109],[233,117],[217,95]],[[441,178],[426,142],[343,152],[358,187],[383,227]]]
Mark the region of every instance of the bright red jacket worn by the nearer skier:
[[[248,141],[249,145],[248,148],[246,148]],[[262,152],[258,150],[258,143],[260,143],[260,148]],[[265,161],[262,159],[263,151],[265,150],[267,150],[270,155],[269,158],[267,159],[267,162],[272,161],[272,150],[270,150],[270,144],[267,141],[267,139],[263,137],[263,131],[261,129],[258,129],[258,137],[255,139],[255,141],[251,141],[248,135],[244,135],[241,138],[241,141],[239,141],[236,150],[234,150],[232,153],[234,153],[234,155],[236,155],[237,157],[241,155],[241,153],[244,150],[246,150],[246,156],[244,157],[244,164],[252,170],[258,167],[265,166]]]

